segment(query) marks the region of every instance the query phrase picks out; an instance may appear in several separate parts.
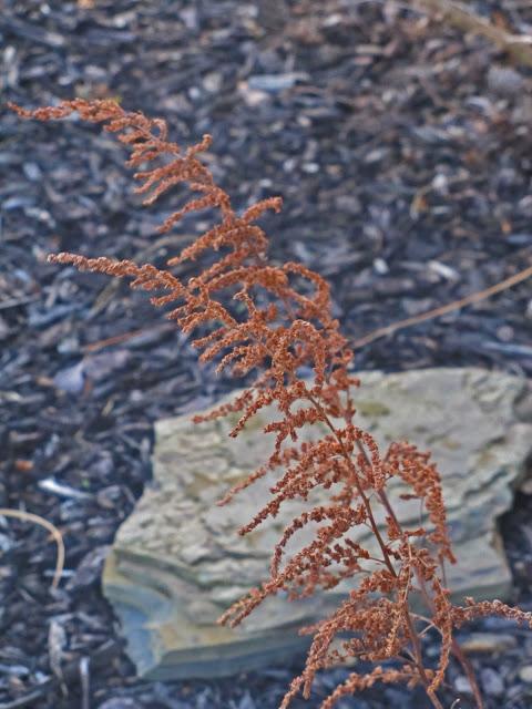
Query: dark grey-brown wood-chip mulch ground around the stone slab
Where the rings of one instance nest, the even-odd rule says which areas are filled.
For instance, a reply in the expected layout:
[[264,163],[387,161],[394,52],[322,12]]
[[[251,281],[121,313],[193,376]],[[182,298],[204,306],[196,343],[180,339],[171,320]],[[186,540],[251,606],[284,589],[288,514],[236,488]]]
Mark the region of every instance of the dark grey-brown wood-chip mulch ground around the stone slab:
[[[184,143],[212,133],[208,160],[235,204],[284,196],[283,214],[264,219],[273,256],[330,279],[349,336],[531,264],[532,78],[484,41],[391,2],[83,4],[4,1],[3,95],[25,106],[115,96],[165,116]],[[528,2],[473,4],[532,31]],[[206,222],[154,235],[176,199],[140,210],[123,151],[95,129],[4,109],[0,126],[0,505],[53,522],[66,544],[51,590],[45,533],[0,521],[0,709],[274,709],[298,661],[236,681],[136,679],[99,586],[105,549],[150,480],[153,422],[234,384],[200,369],[142,294],[45,264],[59,249],[162,264]],[[399,331],[360,349],[357,366],[530,376],[530,292],[521,284]],[[531,512],[523,495],[503,524],[515,599],[529,608]],[[530,707],[518,669],[532,664],[532,635],[497,619],[479,627],[518,640],[474,658],[487,707]],[[324,675],[294,707],[317,707],[342,676]],[[454,667],[450,681],[461,686]],[[387,688],[341,706],[424,701]]]

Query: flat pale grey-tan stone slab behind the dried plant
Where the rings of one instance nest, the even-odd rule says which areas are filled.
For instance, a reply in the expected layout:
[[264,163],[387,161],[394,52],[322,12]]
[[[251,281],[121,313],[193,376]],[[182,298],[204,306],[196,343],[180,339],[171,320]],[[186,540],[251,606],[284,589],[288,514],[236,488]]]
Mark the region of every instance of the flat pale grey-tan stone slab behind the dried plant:
[[[473,368],[360,378],[358,424],[382,446],[408,440],[432,451],[459,558],[448,568],[454,597],[508,597],[511,577],[497,520],[511,507],[532,451],[526,381]],[[267,459],[273,442],[262,429],[273,415],[264,410],[236,440],[227,436],[229,420],[194,425],[184,415],[156,423],[153,484],[120,527],[103,577],[141,676],[221,677],[283,661],[308,643],[297,628],[332,610],[352,587],[354,580],[346,582],[305,602],[278,596],[238,628],[216,625],[231,603],[267,576],[275,543],[303,508],[289,502],[275,520],[241,537],[236,530],[268,500],[273,479],[226,507],[215,505]],[[402,522],[417,526],[419,503],[400,501],[402,491],[400,484],[391,487],[392,504]],[[351,536],[370,544],[366,535],[361,530]],[[301,533],[290,551],[306,540]]]

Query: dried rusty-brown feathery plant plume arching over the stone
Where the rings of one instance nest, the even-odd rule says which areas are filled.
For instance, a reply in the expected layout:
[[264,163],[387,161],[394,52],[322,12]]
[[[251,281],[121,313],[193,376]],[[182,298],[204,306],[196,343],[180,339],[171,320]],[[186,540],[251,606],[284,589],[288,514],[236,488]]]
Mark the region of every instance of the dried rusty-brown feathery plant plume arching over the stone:
[[[532,626],[532,614],[499,600],[452,605],[443,566],[454,563],[454,556],[439,474],[430,455],[412,445],[392,443],[382,454],[374,438],[354,422],[351,391],[358,381],[349,373],[352,353],[332,318],[327,284],[300,264],[274,266],[267,260],[268,240],[256,222],[266,209],[279,210],[280,199],[258,202],[238,215],[200,160],[209,136],[183,151],[167,140],[164,121],[126,112],[113,101],[79,99],[34,111],[11,107],[25,119],[50,121],[76,112],[84,121],[103,123],[131,150],[127,164],[139,169],[136,192],[146,195],[146,205],[172,187],[186,185],[194,197],[166,218],[160,232],[168,232],[191,212],[215,208],[219,213],[215,226],[167,261],[168,269],[75,254],[57,254],[50,260],[131,278],[133,288],[154,292],[155,306],[172,304],[167,317],[184,332],[197,331],[194,346],[202,361],[216,359],[218,370],[255,376],[244,393],[208,414],[237,412],[231,433],[235,436],[264,407],[274,404],[278,411],[278,419],[265,428],[274,436],[269,459],[222,501],[266,474],[276,476],[270,500],[241,534],[275,516],[288,500],[307,502],[313,490],[329,491],[327,504],[308,503],[286,527],[273,549],[269,577],[221,619],[234,626],[270,595],[285,592],[290,598],[304,597],[349,579],[351,590],[340,607],[305,630],[314,636],[306,667],[282,707],[288,707],[299,691],[308,697],[318,670],[359,658],[372,662],[374,669],[350,674],[325,699],[323,709],[376,682],[422,686],[432,706],[441,708],[438,690],[451,654],[463,666],[477,706],[482,707],[454,630],[489,614]],[[186,281],[171,270],[207,253],[208,267],[198,267]],[[303,441],[301,430],[314,424],[325,434]],[[405,528],[399,523],[387,492],[391,479],[400,479],[409,490],[407,496],[422,503],[426,526]],[[377,512],[380,516],[383,512],[383,526],[377,523]],[[315,530],[313,541],[288,554],[288,543],[307,525]],[[371,530],[377,552],[352,538],[360,525]],[[412,610],[415,595],[423,599],[424,615]],[[422,638],[428,631],[441,639],[436,664],[423,656]]]

